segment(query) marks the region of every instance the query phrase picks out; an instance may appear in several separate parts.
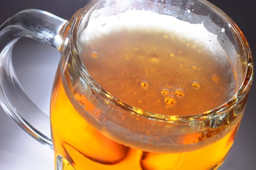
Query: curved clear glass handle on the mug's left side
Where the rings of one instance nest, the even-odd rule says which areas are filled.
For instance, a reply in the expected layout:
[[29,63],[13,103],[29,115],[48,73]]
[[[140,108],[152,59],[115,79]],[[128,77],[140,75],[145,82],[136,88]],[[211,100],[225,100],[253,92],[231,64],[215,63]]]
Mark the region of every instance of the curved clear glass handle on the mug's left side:
[[[25,94],[12,64],[12,49],[21,37],[29,37],[58,50],[60,32],[68,23],[48,12],[29,9],[0,26],[0,105],[29,135],[53,149],[50,119]],[[38,120],[38,121],[37,121]],[[33,125],[31,122],[36,122]]]

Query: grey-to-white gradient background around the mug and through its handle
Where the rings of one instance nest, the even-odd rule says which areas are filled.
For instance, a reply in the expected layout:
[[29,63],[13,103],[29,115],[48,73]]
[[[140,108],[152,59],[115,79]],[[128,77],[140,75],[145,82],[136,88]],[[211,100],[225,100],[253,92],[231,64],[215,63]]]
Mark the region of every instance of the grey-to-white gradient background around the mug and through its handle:
[[[255,0],[209,0],[228,14],[256,53]],[[87,0],[1,0],[0,24],[23,9],[41,9],[69,19]],[[34,40],[21,39],[14,48],[14,65],[25,92],[49,112],[50,93],[59,51]],[[256,85],[250,92],[236,140],[219,170],[256,170]],[[54,170],[53,151],[23,132],[0,108],[0,170]]]

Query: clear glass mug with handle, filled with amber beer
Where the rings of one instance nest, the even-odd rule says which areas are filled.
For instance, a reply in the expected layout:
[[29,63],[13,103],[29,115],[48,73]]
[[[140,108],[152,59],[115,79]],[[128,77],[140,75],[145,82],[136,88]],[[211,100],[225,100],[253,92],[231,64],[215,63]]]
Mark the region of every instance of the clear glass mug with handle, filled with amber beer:
[[[15,76],[20,37],[61,53],[50,120]],[[95,0],[69,21],[25,10],[0,50],[1,106],[54,149],[55,170],[217,170],[253,77],[244,35],[206,0]]]

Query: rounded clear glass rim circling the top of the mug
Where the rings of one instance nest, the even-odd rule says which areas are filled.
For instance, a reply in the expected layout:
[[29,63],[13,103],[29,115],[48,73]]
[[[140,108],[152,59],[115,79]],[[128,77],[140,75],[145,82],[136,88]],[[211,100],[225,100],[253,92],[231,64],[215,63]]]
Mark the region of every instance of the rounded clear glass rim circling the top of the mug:
[[222,103],[221,105],[217,106],[216,108],[212,110],[207,110],[198,114],[190,114],[190,115],[163,115],[159,113],[152,113],[148,112],[146,110],[139,109],[137,107],[134,107],[130,104],[127,104],[125,102],[122,102],[121,100],[117,99],[115,96],[107,92],[104,88],[102,88],[89,74],[89,72],[86,70],[86,67],[84,66],[81,57],[79,56],[78,47],[77,47],[77,39],[78,39],[78,30],[79,25],[81,24],[81,21],[84,14],[90,10],[90,8],[95,5],[97,2],[91,3],[89,5],[86,5],[84,8],[79,10],[78,19],[74,22],[73,27],[71,29],[71,48],[74,49],[72,51],[72,54],[76,56],[76,59],[79,60],[77,63],[79,63],[79,66],[81,66],[80,69],[82,69],[82,76],[86,83],[90,85],[90,87],[95,90],[99,95],[101,95],[103,98],[106,98],[109,100],[109,102],[112,102],[112,104],[117,105],[119,108],[130,112],[131,114],[138,115],[139,117],[144,117],[146,119],[151,120],[157,120],[162,122],[170,122],[170,123],[195,123],[197,121],[202,120],[209,120],[213,119],[213,117],[217,115],[225,114],[225,111],[228,111],[228,109],[234,107],[237,103],[242,101],[244,98],[246,98],[250,87],[252,85],[253,81],[253,57],[252,52],[249,46],[249,43],[247,39],[245,38],[244,34],[241,32],[239,27],[236,25],[236,23],[228,17],[222,10],[220,10],[217,6],[212,4],[209,1],[206,0],[197,0],[204,4],[206,4],[208,7],[214,8],[215,12],[218,13],[221,17],[223,17],[225,20],[227,20],[232,28],[236,36],[238,37],[239,42],[243,45],[246,59],[247,59],[247,68],[246,73],[243,77],[243,81],[240,85],[240,87],[236,90],[236,94],[232,96],[229,100]]

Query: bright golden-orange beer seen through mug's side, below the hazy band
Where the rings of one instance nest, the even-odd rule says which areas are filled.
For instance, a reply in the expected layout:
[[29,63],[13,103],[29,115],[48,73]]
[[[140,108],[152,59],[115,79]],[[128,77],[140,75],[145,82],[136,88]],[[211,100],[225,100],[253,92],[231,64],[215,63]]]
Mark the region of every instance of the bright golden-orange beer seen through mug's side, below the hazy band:
[[217,142],[194,151],[143,152],[119,144],[95,129],[72,105],[60,78],[53,93],[51,124],[55,155],[69,161],[63,170],[216,170],[230,150],[238,127],[237,124]]

